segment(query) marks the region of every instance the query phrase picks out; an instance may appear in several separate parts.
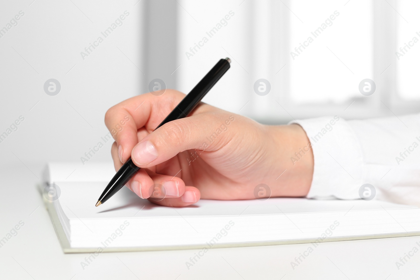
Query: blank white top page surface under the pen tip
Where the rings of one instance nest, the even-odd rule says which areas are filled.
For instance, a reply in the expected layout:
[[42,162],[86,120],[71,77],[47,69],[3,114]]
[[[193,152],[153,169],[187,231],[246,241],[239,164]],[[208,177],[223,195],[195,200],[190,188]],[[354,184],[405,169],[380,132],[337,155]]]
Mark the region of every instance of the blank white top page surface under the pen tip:
[[[261,215],[304,212],[347,212],[367,209],[407,208],[407,205],[385,201],[364,200],[315,200],[304,198],[270,198],[253,200],[206,200],[183,208],[158,206],[141,199],[128,188],[123,187],[104,204],[95,203],[107,183],[56,182],[61,190],[60,204],[67,217],[79,218],[125,218],[164,216],[230,216]],[[382,207],[381,207],[382,206]],[[415,207],[414,207],[415,208]],[[141,209],[141,210],[140,210]],[[71,211],[73,211],[73,213]]]

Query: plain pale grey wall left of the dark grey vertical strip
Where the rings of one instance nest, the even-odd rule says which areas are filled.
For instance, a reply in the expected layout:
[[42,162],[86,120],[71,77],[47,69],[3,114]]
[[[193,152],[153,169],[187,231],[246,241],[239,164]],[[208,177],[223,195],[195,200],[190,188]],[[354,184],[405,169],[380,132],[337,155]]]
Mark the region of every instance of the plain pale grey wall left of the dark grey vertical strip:
[[[141,93],[142,75],[142,3],[32,1],[2,2],[0,8],[0,28],[24,13],[0,38],[0,133],[24,117],[0,143],[0,158],[23,172],[34,162],[80,161],[108,132],[106,110]],[[105,38],[101,31],[124,11],[129,16]],[[83,59],[81,52],[98,37],[104,41]],[[61,84],[56,96],[43,89],[51,78]],[[110,146],[108,141],[92,160],[110,159]]]

